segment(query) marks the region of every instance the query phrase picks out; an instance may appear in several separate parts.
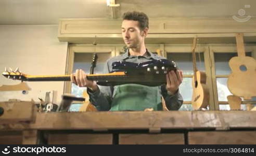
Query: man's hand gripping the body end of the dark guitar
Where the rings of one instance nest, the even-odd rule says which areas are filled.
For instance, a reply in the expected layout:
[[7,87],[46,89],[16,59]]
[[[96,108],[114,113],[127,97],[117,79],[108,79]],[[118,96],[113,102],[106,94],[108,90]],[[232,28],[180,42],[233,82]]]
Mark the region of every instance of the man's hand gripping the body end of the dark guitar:
[[169,71],[166,74],[166,80],[167,91],[169,92],[169,94],[174,95],[183,81],[183,73],[180,70],[176,70],[176,72],[174,72],[173,70]]

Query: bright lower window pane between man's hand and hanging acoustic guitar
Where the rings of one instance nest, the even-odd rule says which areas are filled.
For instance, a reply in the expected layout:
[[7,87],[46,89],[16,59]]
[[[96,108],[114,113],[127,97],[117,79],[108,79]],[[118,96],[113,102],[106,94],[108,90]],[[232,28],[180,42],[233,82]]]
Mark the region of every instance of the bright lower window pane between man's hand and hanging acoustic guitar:
[[183,82],[179,87],[184,101],[191,101],[192,97],[192,78],[183,78]]

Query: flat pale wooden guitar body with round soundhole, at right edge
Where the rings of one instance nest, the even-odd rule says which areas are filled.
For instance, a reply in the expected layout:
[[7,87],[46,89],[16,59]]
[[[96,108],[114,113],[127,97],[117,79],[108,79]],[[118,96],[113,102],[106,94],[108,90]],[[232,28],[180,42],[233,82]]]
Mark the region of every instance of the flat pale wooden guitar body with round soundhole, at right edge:
[[[246,67],[246,71],[240,69]],[[229,91],[245,100],[256,96],[256,60],[252,57],[238,56],[229,60],[232,73],[228,76],[227,86]]]

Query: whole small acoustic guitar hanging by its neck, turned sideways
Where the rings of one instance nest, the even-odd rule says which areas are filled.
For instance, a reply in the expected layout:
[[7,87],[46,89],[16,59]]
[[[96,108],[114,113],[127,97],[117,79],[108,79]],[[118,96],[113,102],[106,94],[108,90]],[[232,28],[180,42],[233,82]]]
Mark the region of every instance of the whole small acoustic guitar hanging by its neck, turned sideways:
[[191,104],[194,110],[207,108],[209,105],[209,89],[206,85],[206,73],[199,71],[196,67],[196,45],[197,37],[194,38],[192,47],[194,75],[192,80],[193,95]]

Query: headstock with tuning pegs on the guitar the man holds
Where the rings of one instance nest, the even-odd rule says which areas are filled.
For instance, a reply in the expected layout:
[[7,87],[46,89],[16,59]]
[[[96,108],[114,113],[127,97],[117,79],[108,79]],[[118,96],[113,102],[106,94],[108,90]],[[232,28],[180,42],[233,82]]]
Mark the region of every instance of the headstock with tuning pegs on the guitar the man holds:
[[23,74],[19,71],[19,68],[16,70],[12,70],[9,68],[5,68],[5,71],[2,73],[7,79],[13,79],[13,80],[21,80],[21,81],[27,81],[28,77],[26,74]]

